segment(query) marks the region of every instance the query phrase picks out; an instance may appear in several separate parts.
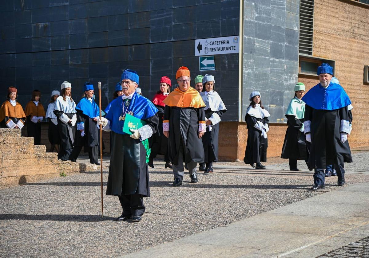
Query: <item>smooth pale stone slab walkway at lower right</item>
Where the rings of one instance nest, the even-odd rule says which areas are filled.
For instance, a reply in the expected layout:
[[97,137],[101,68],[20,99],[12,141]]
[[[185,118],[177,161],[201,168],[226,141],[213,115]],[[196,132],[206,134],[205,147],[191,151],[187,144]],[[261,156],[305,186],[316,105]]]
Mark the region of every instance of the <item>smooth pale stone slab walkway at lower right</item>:
[[[247,250],[228,257],[316,257],[369,235],[369,218],[359,216],[369,211],[368,186],[347,186],[123,257],[198,257],[197,248],[222,257],[220,246]],[[183,245],[192,248],[176,248]]]

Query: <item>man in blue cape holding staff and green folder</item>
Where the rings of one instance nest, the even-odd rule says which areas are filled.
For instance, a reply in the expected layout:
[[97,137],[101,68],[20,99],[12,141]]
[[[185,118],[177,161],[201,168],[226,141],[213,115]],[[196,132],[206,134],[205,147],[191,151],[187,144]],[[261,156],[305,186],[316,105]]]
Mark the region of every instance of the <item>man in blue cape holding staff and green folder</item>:
[[[138,80],[135,71],[125,70],[121,76],[123,96],[111,102],[105,118],[101,118],[101,121],[98,118],[103,130],[112,132],[106,194],[117,195],[123,208],[122,215],[115,221],[140,221],[145,212],[143,197],[150,195],[148,138],[158,130],[159,118],[154,104],[135,92]],[[123,132],[127,114],[143,120],[146,125],[130,129],[131,135]]]

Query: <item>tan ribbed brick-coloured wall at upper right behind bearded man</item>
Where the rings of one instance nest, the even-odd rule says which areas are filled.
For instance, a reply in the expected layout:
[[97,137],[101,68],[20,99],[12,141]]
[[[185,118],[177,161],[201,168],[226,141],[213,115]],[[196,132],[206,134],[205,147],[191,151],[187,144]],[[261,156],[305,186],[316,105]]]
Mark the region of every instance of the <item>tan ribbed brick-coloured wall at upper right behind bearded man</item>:
[[[369,145],[369,85],[363,84],[364,65],[369,65],[368,27],[368,5],[338,0],[314,2],[313,55],[335,60],[335,77],[354,106],[349,137],[354,149]],[[299,81],[307,90],[319,82],[317,76],[299,76]]]

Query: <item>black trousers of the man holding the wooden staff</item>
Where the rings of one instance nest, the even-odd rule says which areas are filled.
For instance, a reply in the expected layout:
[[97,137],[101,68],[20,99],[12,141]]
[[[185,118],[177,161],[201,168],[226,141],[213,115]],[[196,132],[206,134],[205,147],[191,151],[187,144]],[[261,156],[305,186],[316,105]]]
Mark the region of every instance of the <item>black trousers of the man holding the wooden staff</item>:
[[123,216],[142,216],[145,212],[144,198],[141,194],[118,195],[120,205],[123,208]]

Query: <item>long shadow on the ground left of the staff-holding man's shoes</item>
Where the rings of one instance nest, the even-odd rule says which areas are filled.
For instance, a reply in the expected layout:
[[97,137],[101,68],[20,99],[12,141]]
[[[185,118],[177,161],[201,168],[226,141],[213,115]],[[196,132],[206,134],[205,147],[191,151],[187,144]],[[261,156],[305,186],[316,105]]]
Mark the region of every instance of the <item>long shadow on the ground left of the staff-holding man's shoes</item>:
[[113,217],[101,217],[101,215],[77,215],[77,214],[0,214],[0,220],[52,220],[73,222],[99,222],[113,220]]

